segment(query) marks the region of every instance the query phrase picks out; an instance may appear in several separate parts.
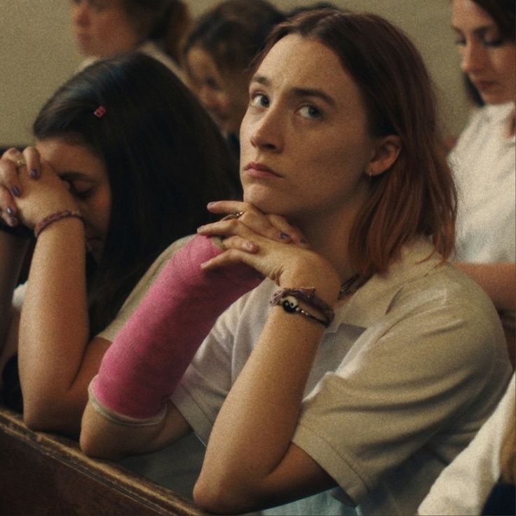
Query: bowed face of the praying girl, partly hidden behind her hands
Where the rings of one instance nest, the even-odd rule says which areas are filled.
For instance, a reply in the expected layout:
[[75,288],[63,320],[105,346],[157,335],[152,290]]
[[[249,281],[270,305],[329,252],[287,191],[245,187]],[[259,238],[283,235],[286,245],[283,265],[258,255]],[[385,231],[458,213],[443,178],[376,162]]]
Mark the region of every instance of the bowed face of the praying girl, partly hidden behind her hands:
[[111,188],[104,162],[88,147],[60,138],[39,140],[36,149],[69,186],[84,218],[88,250],[100,262],[111,215]]

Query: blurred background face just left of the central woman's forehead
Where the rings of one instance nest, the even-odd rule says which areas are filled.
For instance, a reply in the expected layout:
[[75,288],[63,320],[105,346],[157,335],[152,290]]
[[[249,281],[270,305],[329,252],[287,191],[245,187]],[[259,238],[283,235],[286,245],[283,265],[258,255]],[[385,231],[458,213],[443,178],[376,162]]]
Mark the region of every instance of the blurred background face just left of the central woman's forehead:
[[219,72],[211,55],[192,47],[186,55],[191,88],[215,122],[226,133],[238,135],[247,108],[247,76]]

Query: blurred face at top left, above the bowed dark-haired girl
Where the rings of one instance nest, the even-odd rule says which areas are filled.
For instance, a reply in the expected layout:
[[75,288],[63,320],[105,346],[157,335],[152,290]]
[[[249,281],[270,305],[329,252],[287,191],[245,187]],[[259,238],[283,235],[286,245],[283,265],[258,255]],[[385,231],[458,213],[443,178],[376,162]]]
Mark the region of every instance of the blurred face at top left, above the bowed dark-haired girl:
[[74,35],[85,56],[107,57],[133,50],[139,43],[123,0],[72,0]]

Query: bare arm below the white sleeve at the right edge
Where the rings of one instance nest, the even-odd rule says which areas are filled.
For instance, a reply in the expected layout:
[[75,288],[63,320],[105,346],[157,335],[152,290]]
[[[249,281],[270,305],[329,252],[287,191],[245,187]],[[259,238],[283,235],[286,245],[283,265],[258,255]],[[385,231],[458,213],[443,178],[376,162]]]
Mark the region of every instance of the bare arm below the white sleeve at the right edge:
[[455,262],[455,265],[475,280],[491,297],[500,311],[516,308],[516,264],[500,262],[474,264]]

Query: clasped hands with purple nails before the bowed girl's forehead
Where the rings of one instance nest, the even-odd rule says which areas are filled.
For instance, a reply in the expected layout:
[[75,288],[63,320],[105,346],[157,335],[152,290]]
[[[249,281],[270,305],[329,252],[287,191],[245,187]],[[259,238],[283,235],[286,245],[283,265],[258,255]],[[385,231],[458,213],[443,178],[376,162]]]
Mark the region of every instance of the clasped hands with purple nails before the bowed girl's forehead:
[[76,202],[50,164],[35,147],[8,149],[0,158],[0,215],[9,226],[28,228],[61,210],[77,210]]

